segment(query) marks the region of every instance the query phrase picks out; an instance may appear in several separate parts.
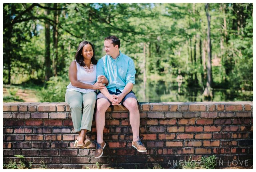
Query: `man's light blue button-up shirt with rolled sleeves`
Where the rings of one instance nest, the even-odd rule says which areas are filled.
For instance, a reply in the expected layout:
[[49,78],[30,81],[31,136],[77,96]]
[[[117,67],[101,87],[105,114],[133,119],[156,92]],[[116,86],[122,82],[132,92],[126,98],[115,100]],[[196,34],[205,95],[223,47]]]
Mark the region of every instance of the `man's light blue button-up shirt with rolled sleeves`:
[[100,75],[106,76],[109,80],[106,87],[113,92],[116,92],[116,89],[123,91],[127,83],[135,84],[134,62],[129,56],[119,52],[120,55],[116,59],[105,55],[97,63],[97,78]]

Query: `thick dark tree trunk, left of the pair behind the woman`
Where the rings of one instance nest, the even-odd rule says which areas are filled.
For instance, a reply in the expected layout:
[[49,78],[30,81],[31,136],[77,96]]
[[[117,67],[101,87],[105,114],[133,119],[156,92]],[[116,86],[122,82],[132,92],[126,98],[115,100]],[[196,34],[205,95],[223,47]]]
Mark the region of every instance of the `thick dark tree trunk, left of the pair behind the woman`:
[[[51,6],[51,3],[46,4],[47,7]],[[45,10],[45,15],[48,16],[50,10]],[[51,58],[50,58],[50,24],[48,21],[45,21],[45,81],[49,81],[51,77]]]

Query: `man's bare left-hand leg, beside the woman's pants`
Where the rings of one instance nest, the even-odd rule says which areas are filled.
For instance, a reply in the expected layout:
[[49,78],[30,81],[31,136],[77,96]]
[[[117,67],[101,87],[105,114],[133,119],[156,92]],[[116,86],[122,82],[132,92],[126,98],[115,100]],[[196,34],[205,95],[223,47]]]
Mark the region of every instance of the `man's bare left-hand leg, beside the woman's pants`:
[[97,142],[103,142],[103,130],[105,127],[105,113],[110,106],[107,99],[97,99],[97,108],[95,114],[96,130],[97,130]]

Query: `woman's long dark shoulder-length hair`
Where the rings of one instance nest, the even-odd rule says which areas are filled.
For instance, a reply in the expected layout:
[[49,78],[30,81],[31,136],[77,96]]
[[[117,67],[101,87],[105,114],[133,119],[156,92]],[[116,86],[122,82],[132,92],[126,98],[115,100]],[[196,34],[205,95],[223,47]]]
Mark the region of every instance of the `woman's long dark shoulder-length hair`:
[[94,46],[92,43],[90,43],[88,41],[83,41],[79,44],[77,51],[76,51],[76,55],[75,55],[76,62],[78,62],[80,66],[85,66],[84,57],[82,56],[82,50],[83,50],[84,45],[86,45],[86,44],[90,44],[92,46],[92,50],[93,50],[93,56],[91,58],[92,64],[97,64],[98,60],[95,59]]

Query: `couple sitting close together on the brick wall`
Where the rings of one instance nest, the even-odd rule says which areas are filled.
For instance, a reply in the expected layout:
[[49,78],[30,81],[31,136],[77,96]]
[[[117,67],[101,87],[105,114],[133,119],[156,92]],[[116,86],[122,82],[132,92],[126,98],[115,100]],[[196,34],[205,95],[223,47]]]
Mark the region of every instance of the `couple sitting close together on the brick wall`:
[[[140,114],[137,98],[132,91],[135,84],[135,66],[133,60],[120,52],[120,40],[115,36],[104,39],[106,55],[98,62],[95,59],[92,43],[83,41],[79,44],[75,60],[69,67],[70,84],[67,86],[65,101],[70,106],[74,131],[79,135],[75,147],[89,148],[90,140],[85,133],[91,130],[95,114],[97,143],[95,158],[100,158],[106,146],[103,140],[105,112],[110,105],[122,104],[129,110],[132,127],[132,146],[139,152],[146,152],[139,139]],[[99,90],[96,93],[96,90]],[[83,104],[83,109],[82,109]]]

